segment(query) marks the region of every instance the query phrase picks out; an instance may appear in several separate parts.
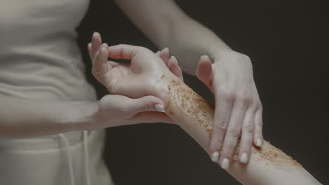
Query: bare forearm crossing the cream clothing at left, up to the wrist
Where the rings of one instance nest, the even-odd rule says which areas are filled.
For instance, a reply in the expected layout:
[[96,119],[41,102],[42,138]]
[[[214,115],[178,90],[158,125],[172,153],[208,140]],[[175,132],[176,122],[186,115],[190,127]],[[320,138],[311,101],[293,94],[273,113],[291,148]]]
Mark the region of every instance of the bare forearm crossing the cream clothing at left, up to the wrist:
[[36,137],[84,130],[96,102],[29,100],[0,95],[0,137]]

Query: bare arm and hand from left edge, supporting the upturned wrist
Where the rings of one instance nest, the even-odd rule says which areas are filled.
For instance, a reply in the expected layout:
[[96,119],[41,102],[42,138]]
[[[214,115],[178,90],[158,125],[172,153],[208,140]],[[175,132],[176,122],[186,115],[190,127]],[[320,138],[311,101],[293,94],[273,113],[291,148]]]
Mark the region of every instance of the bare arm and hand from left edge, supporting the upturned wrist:
[[[169,50],[156,53],[177,74],[181,69],[169,60]],[[141,83],[141,82],[138,82]],[[77,130],[96,130],[138,123],[173,123],[164,114],[158,97],[106,95],[95,102],[31,100],[0,95],[0,137],[38,137]]]

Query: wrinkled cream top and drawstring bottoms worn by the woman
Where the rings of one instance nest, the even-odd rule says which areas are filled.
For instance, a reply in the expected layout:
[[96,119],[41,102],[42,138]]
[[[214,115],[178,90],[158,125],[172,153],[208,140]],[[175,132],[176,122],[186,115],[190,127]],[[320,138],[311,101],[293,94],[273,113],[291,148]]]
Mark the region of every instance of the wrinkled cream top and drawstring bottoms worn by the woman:
[[[89,0],[0,0],[0,94],[93,101],[77,46]],[[105,132],[0,138],[0,184],[112,184]]]

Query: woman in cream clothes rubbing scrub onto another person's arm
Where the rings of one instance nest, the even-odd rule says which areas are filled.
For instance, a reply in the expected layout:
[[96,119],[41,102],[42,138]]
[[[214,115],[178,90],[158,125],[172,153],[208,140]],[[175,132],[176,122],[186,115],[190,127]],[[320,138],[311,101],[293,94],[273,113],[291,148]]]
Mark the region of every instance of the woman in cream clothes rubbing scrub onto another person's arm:
[[[228,106],[217,109],[214,123],[218,127],[214,128],[222,129],[214,129],[209,156],[214,162],[227,162],[242,132],[247,137],[240,147],[240,161],[247,163],[252,144],[262,145],[262,108],[252,70],[238,65],[242,55],[188,18],[174,1],[121,0],[117,4],[157,46],[169,46],[180,58],[187,57],[181,60],[186,71],[195,71],[198,60],[191,63],[191,58],[201,54],[212,55],[217,60],[214,76],[219,81],[214,83],[214,94]],[[75,32],[88,5],[87,0],[0,2],[0,184],[83,184],[84,181],[108,184],[110,176],[101,160],[104,132],[97,129],[134,123],[172,123],[162,112],[164,102],[157,97],[131,99],[108,95],[96,101],[95,92],[84,77]],[[136,6],[144,11],[136,11]],[[179,31],[171,32],[169,28]],[[189,39],[193,35],[199,36]],[[167,62],[168,50],[162,50],[159,55]],[[243,63],[251,66],[249,59]],[[172,61],[170,65],[176,63]],[[172,71],[179,68],[174,67]],[[220,76],[224,72],[228,78]],[[252,81],[250,87],[241,85],[246,84],[246,80]],[[233,106],[240,98],[235,102],[226,99],[221,85],[217,84],[230,85],[232,90],[228,96],[233,98],[236,92],[247,92],[250,95],[247,99],[252,100],[247,107],[259,105],[259,109],[252,112],[258,115],[257,122],[252,123],[254,129],[246,130],[241,125],[245,118],[239,115],[244,115],[245,110]],[[229,120],[226,115],[231,115],[231,111],[239,120],[226,123]],[[221,119],[222,116],[226,118]],[[223,124],[238,125],[238,135],[224,138],[231,127],[223,129]],[[219,158],[222,146],[225,153]],[[89,151],[93,154],[88,155]],[[221,166],[228,167],[228,164]]]

